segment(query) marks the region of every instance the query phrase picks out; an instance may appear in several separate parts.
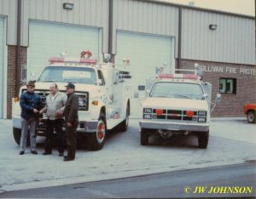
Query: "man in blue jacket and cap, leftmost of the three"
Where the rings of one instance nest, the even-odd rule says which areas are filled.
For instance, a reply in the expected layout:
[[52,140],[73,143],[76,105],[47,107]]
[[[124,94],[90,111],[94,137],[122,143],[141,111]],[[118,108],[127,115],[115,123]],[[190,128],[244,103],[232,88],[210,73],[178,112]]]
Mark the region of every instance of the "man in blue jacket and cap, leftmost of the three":
[[21,137],[20,137],[20,155],[26,150],[26,138],[29,127],[31,152],[37,155],[36,151],[36,125],[39,118],[39,111],[42,108],[42,101],[38,94],[34,93],[35,84],[30,81],[26,84],[26,92],[20,96],[21,107]]

